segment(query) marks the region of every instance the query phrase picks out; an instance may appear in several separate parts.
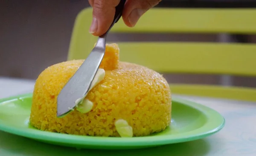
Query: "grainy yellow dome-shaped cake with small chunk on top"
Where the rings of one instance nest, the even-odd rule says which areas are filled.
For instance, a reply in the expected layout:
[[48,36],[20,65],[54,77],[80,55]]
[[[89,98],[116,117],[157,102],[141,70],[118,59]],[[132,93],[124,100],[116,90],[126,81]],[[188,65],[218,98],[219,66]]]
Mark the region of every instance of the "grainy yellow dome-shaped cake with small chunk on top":
[[[113,48],[116,44],[106,46]],[[108,52],[119,54],[119,49]],[[105,77],[86,96],[93,102],[92,110],[81,113],[75,109],[58,118],[57,96],[83,61],[61,62],[38,76],[30,114],[32,126],[59,133],[120,136],[115,121],[124,119],[132,127],[133,136],[148,136],[166,129],[171,123],[171,92],[166,79],[141,65],[115,59],[111,60],[111,65],[116,61],[116,67],[111,70],[106,70],[107,64],[101,64],[106,70]]]

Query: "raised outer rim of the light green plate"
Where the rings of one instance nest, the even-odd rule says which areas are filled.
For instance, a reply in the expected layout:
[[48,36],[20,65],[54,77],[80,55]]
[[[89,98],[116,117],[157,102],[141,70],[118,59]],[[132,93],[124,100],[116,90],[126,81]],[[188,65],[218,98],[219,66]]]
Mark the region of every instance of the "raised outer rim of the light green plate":
[[[0,99],[0,104],[3,102],[10,102],[20,98],[32,98],[32,93],[20,94],[16,96],[10,96],[7,98]],[[163,136],[142,136],[132,138],[120,138],[120,137],[101,137],[101,136],[79,136],[64,133],[55,133],[42,130],[35,130],[27,128],[13,128],[6,124],[0,123],[0,130],[6,133],[11,133],[17,136],[23,136],[30,139],[37,139],[46,142],[64,143],[64,144],[76,144],[82,146],[101,146],[101,147],[138,147],[138,146],[157,146],[157,145],[168,145],[172,143],[188,142],[197,139],[202,139],[206,136],[210,136],[217,133],[225,125],[224,117],[212,108],[197,102],[192,102],[187,99],[181,99],[172,96],[172,101],[179,102],[183,105],[195,108],[207,117],[207,122],[195,130],[175,134],[174,136],[166,137]],[[207,113],[206,113],[207,112]],[[215,119],[212,118],[214,116]],[[218,118],[218,119],[216,119]],[[33,133],[31,133],[31,131]],[[204,131],[204,132],[201,132]],[[185,135],[185,136],[184,136]],[[102,139],[104,138],[104,139]],[[106,139],[107,138],[107,139]],[[151,138],[151,139],[149,139]],[[149,141],[150,140],[150,141]]]

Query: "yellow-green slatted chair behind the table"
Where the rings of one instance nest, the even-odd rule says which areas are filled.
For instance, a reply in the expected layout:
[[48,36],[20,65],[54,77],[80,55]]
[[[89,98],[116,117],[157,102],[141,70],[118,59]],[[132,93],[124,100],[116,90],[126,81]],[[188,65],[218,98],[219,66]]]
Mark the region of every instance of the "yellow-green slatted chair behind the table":
[[[111,33],[256,33],[256,9],[151,9],[134,28],[122,20]],[[92,8],[76,18],[68,60],[85,59],[97,37],[89,34]],[[241,43],[116,42],[120,60],[161,73],[256,76],[256,45]],[[146,56],[146,57],[145,57]],[[256,101],[256,88],[170,84],[173,94]]]

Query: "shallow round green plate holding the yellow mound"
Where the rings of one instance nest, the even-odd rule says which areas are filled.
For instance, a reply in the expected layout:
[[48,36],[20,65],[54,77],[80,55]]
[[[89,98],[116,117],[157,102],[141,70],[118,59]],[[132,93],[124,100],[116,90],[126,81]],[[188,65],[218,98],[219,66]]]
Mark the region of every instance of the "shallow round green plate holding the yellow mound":
[[224,118],[216,111],[183,99],[172,99],[171,125],[151,136],[120,138],[78,136],[41,131],[29,125],[32,94],[0,99],[0,130],[8,133],[76,148],[132,149],[188,142],[209,136],[224,127]]

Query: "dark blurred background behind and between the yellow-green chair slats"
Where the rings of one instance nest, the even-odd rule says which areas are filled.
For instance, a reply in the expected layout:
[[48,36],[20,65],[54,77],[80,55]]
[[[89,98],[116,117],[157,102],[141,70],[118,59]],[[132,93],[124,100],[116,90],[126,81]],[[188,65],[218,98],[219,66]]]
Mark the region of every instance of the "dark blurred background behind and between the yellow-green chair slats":
[[[0,77],[36,79],[48,66],[67,60],[76,15],[87,0],[0,0]],[[157,7],[252,8],[256,0],[162,0]],[[108,42],[154,41],[256,43],[251,34],[111,34]],[[228,75],[164,75],[172,83],[256,87],[256,78]]]

